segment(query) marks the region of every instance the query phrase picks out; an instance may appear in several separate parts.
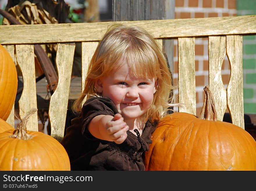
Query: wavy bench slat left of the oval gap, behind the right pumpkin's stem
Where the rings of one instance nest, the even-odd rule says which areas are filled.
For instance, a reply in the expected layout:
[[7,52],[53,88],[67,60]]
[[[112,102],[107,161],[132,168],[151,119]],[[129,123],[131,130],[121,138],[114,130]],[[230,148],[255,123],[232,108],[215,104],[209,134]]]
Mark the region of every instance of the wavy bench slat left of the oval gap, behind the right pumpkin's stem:
[[209,87],[214,97],[217,119],[223,120],[227,109],[227,91],[221,78],[221,66],[226,55],[226,37],[209,37]]

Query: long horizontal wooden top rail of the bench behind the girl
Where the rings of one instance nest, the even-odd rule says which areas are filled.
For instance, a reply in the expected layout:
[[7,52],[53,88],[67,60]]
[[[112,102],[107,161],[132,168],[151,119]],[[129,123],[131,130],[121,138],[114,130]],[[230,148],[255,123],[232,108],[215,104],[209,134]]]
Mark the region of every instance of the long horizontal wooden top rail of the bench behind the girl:
[[[112,23],[141,26],[156,38],[256,34],[256,15],[246,15],[147,21],[9,25],[0,26],[0,39],[2,45],[99,41],[106,32],[107,27]],[[185,29],[184,26],[186,26]]]

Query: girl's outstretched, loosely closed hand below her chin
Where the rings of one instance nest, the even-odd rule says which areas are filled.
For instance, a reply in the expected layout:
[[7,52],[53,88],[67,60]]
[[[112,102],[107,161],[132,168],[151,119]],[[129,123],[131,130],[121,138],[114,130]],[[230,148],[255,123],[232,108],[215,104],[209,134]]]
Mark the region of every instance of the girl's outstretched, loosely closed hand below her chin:
[[127,131],[129,126],[124,122],[124,118],[121,114],[115,114],[111,121],[106,123],[106,131],[111,141],[117,144],[121,144],[127,137]]

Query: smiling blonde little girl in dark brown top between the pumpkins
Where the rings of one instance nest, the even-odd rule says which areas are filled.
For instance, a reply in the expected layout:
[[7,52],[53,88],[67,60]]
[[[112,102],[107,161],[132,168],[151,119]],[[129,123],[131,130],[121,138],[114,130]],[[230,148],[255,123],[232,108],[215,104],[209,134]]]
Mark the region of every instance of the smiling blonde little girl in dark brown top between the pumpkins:
[[[152,34],[113,25],[90,61],[61,141],[71,170],[145,170],[151,134],[172,106],[171,74]],[[84,102],[85,101],[85,102]]]

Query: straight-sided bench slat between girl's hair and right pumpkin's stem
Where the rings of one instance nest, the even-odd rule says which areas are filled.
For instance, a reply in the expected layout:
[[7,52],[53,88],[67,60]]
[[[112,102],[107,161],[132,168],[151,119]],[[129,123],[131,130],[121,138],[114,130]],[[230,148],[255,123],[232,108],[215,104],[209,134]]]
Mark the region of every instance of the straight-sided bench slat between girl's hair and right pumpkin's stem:
[[195,38],[178,38],[178,90],[179,112],[196,115],[195,100]]

